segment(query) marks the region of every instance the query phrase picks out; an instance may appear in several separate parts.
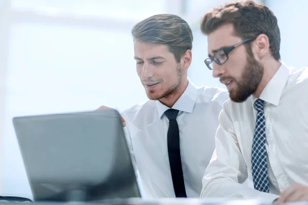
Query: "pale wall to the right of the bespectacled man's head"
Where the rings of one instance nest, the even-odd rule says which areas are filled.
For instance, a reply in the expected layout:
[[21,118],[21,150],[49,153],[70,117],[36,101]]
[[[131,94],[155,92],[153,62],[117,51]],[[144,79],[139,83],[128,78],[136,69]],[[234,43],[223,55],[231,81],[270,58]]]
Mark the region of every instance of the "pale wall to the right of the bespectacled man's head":
[[308,48],[308,1],[266,0],[278,18],[281,34],[281,60],[288,66],[306,67]]

